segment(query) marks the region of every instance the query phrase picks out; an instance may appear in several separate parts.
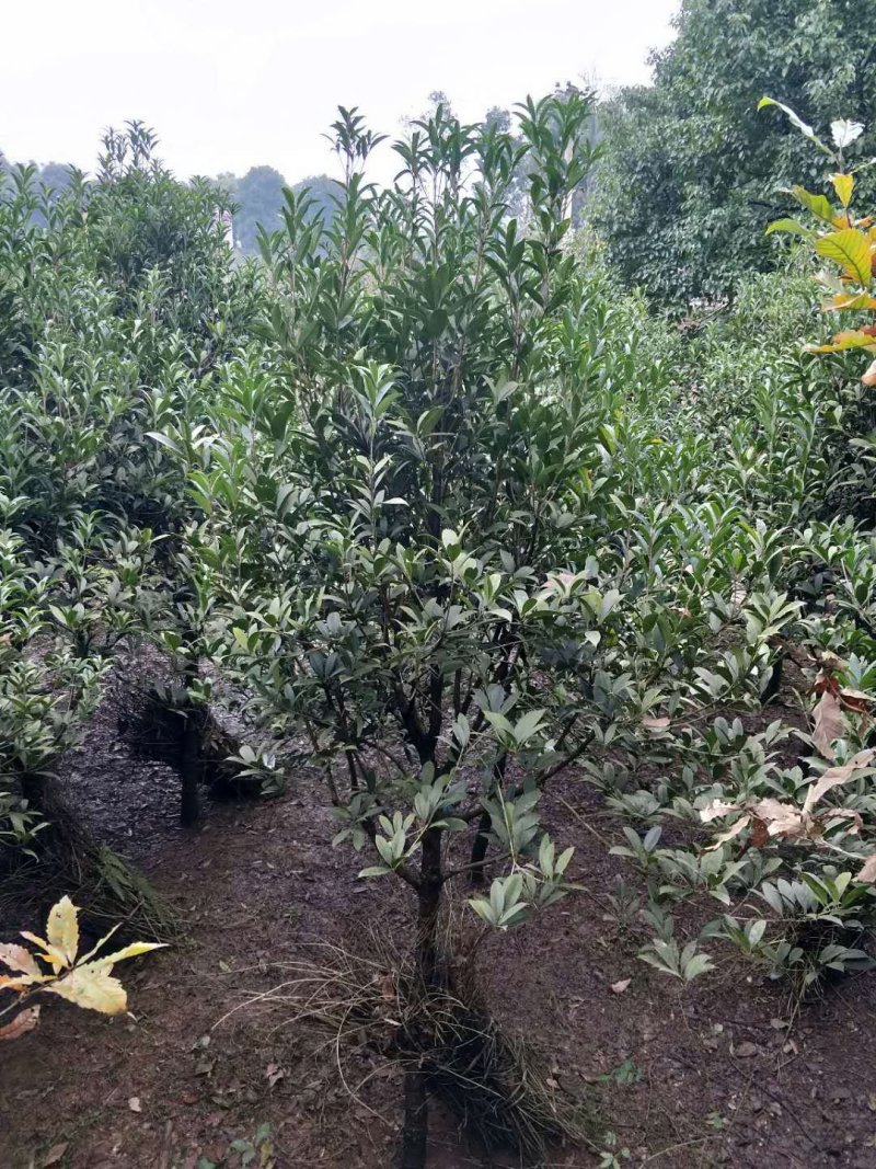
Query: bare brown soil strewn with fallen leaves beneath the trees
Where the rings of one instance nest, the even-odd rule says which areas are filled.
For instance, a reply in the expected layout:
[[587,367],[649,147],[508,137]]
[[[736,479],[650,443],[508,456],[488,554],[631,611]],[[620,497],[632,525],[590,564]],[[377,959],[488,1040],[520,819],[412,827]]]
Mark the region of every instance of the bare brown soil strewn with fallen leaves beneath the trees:
[[[381,945],[409,920],[404,888],[387,904],[356,880],[362,859],[332,849],[317,777],[292,776],[270,803],[214,804],[186,832],[176,776],[131,754],[110,698],[62,779],[95,831],[180,907],[188,939],[124,970],[130,1017],[51,1002],[35,1032],[0,1047],[0,1169],[237,1167],[262,1125],[277,1169],[388,1169],[397,1070],[368,1053],[339,1068],[281,1004],[248,1005],[284,981],[284,963],[319,959],[326,942]],[[606,920],[616,874],[632,874],[607,855],[613,829],[592,789],[569,776],[545,811],[576,846],[584,891],[493,936],[481,967],[496,1015],[547,1045],[557,1082],[599,1118],[598,1150],[557,1149],[551,1164],[876,1169],[876,975],[793,1018],[786,992],[738,962],[680,988]],[[488,1163],[433,1108],[430,1167]]]

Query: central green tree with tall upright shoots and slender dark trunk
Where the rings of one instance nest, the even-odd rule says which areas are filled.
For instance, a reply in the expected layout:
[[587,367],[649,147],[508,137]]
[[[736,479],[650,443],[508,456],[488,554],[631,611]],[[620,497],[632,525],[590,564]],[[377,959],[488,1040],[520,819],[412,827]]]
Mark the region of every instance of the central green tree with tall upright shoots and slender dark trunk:
[[[554,776],[691,685],[707,703],[757,690],[764,665],[766,634],[726,655],[725,679],[691,684],[693,650],[668,666],[658,579],[634,566],[653,575],[656,552],[598,514],[605,371],[564,248],[589,110],[528,102],[516,145],[439,109],[395,145],[385,192],[363,178],[374,136],[342,111],[331,224],[290,195],[286,230],[263,238],[281,359],[224,368],[222,427],[192,476],[223,669],[276,733],[310,738],[336,841],[373,851],[362,876],[413,891],[426,996],[453,978],[452,879],[492,876],[472,906],[500,929],[563,894],[570,851],[538,812]],[[521,167],[527,233],[507,215]],[[427,1058],[405,1075],[410,1169]]]

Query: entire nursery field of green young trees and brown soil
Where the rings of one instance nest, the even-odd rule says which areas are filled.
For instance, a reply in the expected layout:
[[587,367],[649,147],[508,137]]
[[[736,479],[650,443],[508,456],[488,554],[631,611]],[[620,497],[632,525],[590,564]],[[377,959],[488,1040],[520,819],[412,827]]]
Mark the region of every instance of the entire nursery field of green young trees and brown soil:
[[341,109],[258,258],[6,174],[4,1165],[876,1165],[876,228],[763,105],[684,314],[573,88]]

